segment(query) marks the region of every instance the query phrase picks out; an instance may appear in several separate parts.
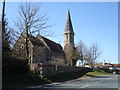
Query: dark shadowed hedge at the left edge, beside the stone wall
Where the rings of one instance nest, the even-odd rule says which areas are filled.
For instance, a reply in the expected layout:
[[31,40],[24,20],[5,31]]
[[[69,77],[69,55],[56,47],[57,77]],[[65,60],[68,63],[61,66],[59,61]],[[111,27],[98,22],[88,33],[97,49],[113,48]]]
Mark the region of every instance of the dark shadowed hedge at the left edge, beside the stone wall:
[[2,72],[3,73],[27,73],[28,72],[27,61],[25,59],[3,55]]

